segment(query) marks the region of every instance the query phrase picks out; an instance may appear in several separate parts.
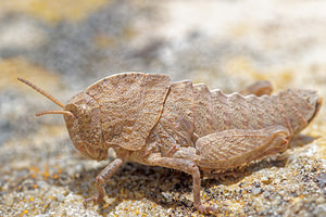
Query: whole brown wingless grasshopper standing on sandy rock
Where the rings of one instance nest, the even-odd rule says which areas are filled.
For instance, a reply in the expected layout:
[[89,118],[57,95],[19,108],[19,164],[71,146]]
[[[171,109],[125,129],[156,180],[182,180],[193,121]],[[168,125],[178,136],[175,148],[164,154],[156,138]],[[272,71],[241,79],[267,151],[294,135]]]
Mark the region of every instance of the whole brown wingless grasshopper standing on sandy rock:
[[316,116],[322,98],[315,91],[289,89],[269,95],[269,82],[225,94],[191,81],[171,82],[166,75],[125,73],[105,77],[73,97],[66,105],[18,78],[63,110],[75,148],[89,158],[116,158],[96,178],[101,203],[103,184],[127,161],[183,170],[193,179],[193,205],[216,212],[200,199],[200,170],[212,176],[283,152],[289,140]]

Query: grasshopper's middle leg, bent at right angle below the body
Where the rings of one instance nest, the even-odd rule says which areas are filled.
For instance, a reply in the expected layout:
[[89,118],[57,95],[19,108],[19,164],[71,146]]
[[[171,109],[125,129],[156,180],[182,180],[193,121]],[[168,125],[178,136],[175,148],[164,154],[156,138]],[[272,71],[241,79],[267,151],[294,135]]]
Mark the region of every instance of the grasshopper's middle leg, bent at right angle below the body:
[[150,165],[152,166],[162,166],[172,169],[181,170],[186,174],[192,176],[192,190],[193,190],[193,206],[203,214],[210,212],[215,213],[216,208],[212,206],[204,206],[201,204],[200,199],[200,171],[199,167],[191,159],[185,158],[172,158],[172,157],[161,157],[158,154],[152,154],[148,158]]

